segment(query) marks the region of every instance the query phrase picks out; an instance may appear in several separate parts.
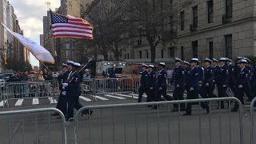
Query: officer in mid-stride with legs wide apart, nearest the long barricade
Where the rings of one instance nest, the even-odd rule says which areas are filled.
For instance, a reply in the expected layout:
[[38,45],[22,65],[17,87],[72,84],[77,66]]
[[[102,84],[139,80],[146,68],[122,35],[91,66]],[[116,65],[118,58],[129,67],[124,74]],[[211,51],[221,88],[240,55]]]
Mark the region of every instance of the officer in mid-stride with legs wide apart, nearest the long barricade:
[[[199,70],[197,68],[197,65],[199,63],[198,58],[192,58],[190,62],[191,70],[189,73],[190,80],[187,83],[187,86],[189,87],[189,91],[187,94],[187,99],[197,99],[198,98],[198,92],[200,90],[199,87]],[[207,114],[209,114],[209,106],[206,102],[201,102],[201,107],[203,109],[206,109]],[[192,103],[187,103],[186,105],[186,113],[183,115],[191,115],[192,113]]]

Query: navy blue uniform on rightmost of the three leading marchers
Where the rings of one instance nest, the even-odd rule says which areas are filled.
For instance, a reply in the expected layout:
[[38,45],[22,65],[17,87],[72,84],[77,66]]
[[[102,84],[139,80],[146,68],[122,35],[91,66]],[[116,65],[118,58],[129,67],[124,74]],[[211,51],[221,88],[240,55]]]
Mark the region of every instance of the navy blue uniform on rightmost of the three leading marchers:
[[160,101],[161,96],[166,98],[167,101],[172,100],[170,96],[167,96],[166,89],[167,89],[166,71],[162,69],[158,72],[158,82],[156,86],[156,98],[155,98],[156,102]]

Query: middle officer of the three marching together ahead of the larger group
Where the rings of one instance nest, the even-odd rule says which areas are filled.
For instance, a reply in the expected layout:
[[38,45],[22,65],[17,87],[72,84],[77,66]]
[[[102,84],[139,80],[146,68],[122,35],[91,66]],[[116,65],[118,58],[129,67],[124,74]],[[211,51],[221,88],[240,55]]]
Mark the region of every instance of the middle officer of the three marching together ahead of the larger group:
[[155,99],[155,86],[157,85],[157,78],[154,72],[154,65],[148,67],[148,84],[147,84],[147,98],[148,102],[152,102]]

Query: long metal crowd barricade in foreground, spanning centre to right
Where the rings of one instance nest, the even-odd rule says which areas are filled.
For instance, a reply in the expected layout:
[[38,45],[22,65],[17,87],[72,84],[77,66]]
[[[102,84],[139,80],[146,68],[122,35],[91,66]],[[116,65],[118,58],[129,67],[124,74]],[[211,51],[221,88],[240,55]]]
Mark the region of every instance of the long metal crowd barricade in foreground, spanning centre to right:
[[[221,101],[238,102],[238,113],[231,114],[230,108],[215,110],[214,103]],[[210,114],[194,106],[192,116],[170,112],[173,104],[190,102],[199,107],[201,102],[209,102]],[[159,107],[151,110],[148,106]],[[94,110],[94,116],[80,121],[83,110]],[[243,144],[242,110],[242,103],[233,97],[85,106],[75,115],[75,143]]]

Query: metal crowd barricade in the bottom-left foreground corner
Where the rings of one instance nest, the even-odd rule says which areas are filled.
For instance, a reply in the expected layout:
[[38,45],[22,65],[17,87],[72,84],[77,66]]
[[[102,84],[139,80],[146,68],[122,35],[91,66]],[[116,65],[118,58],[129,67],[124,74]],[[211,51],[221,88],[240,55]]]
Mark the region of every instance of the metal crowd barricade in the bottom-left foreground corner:
[[[50,112],[58,113],[60,119],[50,117]],[[1,111],[0,118],[1,143],[66,144],[65,117],[58,109]]]

